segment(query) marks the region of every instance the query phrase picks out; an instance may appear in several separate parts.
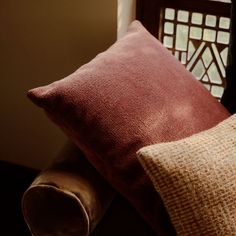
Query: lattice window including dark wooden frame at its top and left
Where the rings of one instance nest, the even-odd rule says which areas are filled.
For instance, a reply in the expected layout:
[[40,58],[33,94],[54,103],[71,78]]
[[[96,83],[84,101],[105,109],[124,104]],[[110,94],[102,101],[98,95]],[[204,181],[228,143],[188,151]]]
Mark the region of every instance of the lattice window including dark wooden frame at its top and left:
[[220,100],[230,8],[229,0],[137,0],[137,19]]

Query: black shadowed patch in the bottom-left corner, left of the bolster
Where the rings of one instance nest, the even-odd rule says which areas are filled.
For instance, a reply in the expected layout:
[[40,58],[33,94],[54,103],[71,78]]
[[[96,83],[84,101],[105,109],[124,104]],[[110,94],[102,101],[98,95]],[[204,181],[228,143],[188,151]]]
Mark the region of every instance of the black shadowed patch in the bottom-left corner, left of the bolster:
[[21,213],[21,197],[37,173],[0,161],[0,235],[31,236]]

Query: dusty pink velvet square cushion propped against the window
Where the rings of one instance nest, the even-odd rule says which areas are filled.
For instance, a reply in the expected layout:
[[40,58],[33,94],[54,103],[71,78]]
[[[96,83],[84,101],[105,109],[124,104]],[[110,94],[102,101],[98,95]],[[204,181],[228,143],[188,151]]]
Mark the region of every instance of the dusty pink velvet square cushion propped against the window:
[[135,21],[107,51],[28,96],[160,234],[165,208],[136,151],[214,126],[228,112]]

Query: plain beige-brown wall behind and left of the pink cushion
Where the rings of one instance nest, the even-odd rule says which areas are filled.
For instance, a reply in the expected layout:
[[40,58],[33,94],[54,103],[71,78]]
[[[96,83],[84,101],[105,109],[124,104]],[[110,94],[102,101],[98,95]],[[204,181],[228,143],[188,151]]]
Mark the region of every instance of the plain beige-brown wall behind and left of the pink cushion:
[[0,2],[0,158],[42,168],[65,136],[26,98],[116,39],[116,0]]

